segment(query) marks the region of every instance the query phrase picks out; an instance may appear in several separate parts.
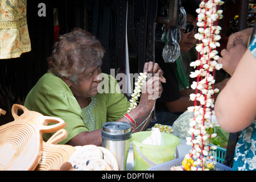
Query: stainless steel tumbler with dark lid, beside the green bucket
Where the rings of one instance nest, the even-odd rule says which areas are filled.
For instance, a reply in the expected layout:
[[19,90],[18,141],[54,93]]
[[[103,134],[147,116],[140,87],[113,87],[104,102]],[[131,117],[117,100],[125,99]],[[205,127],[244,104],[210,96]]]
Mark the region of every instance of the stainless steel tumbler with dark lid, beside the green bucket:
[[106,122],[101,130],[102,147],[115,155],[120,171],[126,170],[130,147],[131,126],[126,122]]

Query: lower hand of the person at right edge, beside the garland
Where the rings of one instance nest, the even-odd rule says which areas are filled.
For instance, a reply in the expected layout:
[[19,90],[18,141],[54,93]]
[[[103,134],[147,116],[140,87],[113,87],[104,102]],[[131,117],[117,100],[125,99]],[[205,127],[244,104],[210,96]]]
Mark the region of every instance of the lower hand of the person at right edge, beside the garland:
[[245,51],[246,46],[243,44],[242,40],[236,40],[234,46],[222,49],[222,57],[218,59],[218,63],[222,64],[222,68],[232,76]]

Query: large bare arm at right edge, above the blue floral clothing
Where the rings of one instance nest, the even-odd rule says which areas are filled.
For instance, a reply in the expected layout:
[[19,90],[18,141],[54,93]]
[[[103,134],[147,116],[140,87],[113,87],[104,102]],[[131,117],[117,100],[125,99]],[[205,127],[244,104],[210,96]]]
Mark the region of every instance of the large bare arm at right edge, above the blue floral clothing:
[[230,81],[218,94],[214,111],[227,132],[245,129],[256,117],[255,69],[256,59],[247,49]]

